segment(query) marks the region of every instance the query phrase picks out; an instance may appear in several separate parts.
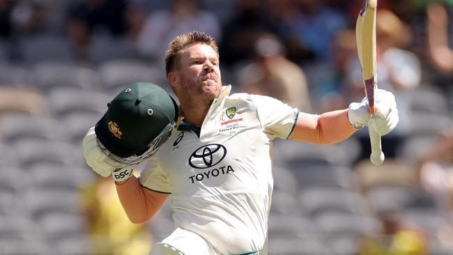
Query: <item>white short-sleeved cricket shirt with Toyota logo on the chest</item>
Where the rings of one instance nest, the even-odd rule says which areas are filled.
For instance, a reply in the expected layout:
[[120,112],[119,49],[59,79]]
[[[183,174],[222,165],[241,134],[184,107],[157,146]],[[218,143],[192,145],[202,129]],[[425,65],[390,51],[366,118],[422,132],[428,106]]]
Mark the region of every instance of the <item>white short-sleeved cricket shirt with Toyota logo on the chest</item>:
[[286,139],[298,109],[224,86],[201,129],[181,124],[150,157],[140,183],[172,194],[175,227],[222,254],[259,251],[272,196],[272,139]]

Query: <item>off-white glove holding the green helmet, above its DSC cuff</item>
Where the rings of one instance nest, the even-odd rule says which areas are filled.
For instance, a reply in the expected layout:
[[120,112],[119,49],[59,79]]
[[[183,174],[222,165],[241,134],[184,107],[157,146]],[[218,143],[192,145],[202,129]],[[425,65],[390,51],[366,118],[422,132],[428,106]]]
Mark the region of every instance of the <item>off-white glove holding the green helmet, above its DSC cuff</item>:
[[125,167],[125,164],[112,160],[112,158],[109,157],[109,151],[107,149],[100,148],[102,144],[98,142],[94,127],[91,127],[86,133],[83,146],[86,164],[100,176],[107,177],[115,171],[115,169],[122,169]]

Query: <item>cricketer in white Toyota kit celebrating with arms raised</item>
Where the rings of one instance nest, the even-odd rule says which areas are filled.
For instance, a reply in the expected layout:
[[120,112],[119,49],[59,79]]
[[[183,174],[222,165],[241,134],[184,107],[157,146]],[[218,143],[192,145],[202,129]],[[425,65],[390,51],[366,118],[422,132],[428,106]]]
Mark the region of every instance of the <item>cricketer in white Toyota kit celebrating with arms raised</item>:
[[[165,68],[180,102],[179,120],[172,132],[166,131],[174,122],[172,114],[167,114],[167,122],[153,120],[153,114],[148,123],[142,118],[131,120],[131,130],[142,127],[155,134],[137,133],[135,139],[144,136],[148,146],[129,143],[128,148],[135,149],[123,155],[115,154],[124,141],[114,133],[122,132],[125,137],[125,131],[119,124],[109,124],[114,121],[106,117],[84,138],[89,166],[98,173],[119,176],[114,177],[116,189],[132,222],[151,219],[171,194],[175,230],[154,246],[153,255],[267,254],[272,140],[333,144],[364,125],[384,135],[398,123],[394,96],[382,90],[377,91],[377,113],[372,117],[367,100],[352,103],[348,109],[314,115],[266,96],[229,95],[231,86],[222,86],[216,42],[199,31],[170,42]],[[117,98],[136,89],[126,88]],[[128,111],[146,102],[132,96],[120,100],[114,109],[114,101],[107,114],[116,116],[118,122],[124,122]],[[171,109],[169,102],[166,109]],[[153,107],[159,107],[154,102],[146,104],[153,112],[157,111]],[[167,142],[162,142],[164,138],[150,142],[159,134],[160,138],[168,137]],[[145,160],[144,170],[139,178],[130,174],[121,178],[118,173],[140,161],[124,159],[131,155],[132,159]]]

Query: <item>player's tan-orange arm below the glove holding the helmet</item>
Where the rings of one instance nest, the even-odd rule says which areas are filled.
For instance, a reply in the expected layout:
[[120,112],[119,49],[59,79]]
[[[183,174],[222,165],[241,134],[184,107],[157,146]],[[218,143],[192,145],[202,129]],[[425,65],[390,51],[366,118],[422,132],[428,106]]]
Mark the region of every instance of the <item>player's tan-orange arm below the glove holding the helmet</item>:
[[151,219],[168,196],[147,190],[133,175],[123,185],[116,185],[116,192],[132,223],[143,223]]

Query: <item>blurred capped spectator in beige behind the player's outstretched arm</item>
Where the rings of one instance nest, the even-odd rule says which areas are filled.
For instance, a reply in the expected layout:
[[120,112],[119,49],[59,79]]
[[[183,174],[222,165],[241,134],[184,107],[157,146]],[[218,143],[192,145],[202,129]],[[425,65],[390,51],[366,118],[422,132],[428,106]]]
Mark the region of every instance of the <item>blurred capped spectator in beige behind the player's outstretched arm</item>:
[[242,90],[277,98],[301,111],[312,111],[305,73],[286,59],[282,43],[271,34],[263,34],[253,45],[254,61],[238,73]]

